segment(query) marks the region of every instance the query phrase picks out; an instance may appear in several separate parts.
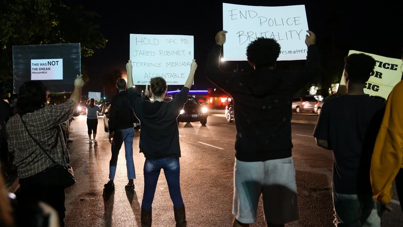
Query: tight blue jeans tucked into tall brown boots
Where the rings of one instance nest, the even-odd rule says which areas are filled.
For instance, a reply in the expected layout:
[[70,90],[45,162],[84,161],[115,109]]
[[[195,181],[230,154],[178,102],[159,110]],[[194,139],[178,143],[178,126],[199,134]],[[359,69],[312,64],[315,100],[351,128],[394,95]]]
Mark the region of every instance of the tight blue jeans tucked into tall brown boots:
[[141,208],[145,210],[151,211],[161,169],[164,170],[169,195],[174,207],[180,208],[183,206],[181,185],[179,183],[179,158],[146,159],[144,162],[144,194],[143,202],[141,202]]

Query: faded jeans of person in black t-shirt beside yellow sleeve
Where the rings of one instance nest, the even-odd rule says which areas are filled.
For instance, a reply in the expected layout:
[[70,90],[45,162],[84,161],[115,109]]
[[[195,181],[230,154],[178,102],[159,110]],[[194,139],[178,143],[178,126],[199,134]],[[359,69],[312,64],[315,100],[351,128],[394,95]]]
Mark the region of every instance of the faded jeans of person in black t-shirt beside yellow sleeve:
[[380,227],[380,205],[372,193],[346,195],[333,192],[336,227]]

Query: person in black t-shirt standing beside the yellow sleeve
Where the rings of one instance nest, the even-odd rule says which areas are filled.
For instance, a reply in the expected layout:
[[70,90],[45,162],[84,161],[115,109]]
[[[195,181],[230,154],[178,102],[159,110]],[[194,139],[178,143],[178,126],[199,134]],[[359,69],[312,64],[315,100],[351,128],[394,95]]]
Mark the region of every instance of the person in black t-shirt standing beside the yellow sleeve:
[[333,151],[336,226],[380,227],[382,208],[372,196],[370,165],[385,104],[364,93],[375,63],[365,54],[346,58],[347,93],[323,104],[314,130],[316,144]]

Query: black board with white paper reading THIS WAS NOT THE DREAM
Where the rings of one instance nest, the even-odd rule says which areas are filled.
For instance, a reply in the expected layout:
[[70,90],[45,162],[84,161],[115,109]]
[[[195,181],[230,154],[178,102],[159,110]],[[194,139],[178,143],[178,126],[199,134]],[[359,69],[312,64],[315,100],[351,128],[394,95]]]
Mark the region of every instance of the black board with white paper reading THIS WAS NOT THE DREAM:
[[12,47],[13,93],[28,80],[40,80],[49,92],[73,92],[81,72],[79,43]]

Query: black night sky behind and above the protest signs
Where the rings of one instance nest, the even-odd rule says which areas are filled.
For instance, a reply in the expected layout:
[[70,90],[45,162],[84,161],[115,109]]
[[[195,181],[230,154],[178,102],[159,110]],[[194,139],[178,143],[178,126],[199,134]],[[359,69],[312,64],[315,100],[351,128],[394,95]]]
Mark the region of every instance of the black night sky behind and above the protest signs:
[[[204,77],[208,51],[214,45],[215,34],[222,30],[222,2],[211,1],[73,1],[87,11],[101,17],[100,25],[109,41],[106,48],[95,50],[92,57],[83,57],[90,82],[85,91],[102,92],[102,76],[113,69],[126,74],[129,60],[129,34],[193,35],[194,53],[198,63],[195,87],[211,88]],[[348,51],[359,50],[385,57],[400,58],[403,46],[403,1],[383,0],[374,3],[361,1],[291,1],[291,0],[238,0],[232,4],[254,6],[287,6],[304,4],[310,30],[317,36],[320,50],[330,51],[332,33],[334,46],[343,58]],[[225,44],[224,44],[225,48]],[[226,62],[224,69],[236,67],[237,62]],[[249,70],[246,62],[238,62],[241,69]],[[172,89],[172,88],[170,88]],[[175,89],[176,90],[176,89]]]

